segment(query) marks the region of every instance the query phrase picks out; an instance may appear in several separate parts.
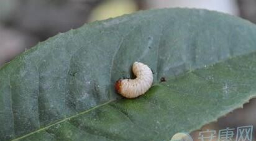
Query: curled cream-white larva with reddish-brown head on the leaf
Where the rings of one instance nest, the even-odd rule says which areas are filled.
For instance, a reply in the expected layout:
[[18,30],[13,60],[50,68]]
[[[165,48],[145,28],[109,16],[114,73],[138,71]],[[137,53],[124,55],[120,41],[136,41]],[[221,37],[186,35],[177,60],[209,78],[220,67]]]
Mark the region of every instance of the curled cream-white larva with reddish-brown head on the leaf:
[[146,93],[153,83],[153,74],[149,66],[135,61],[132,65],[132,71],[136,78],[117,80],[115,88],[117,93],[126,98],[137,98]]

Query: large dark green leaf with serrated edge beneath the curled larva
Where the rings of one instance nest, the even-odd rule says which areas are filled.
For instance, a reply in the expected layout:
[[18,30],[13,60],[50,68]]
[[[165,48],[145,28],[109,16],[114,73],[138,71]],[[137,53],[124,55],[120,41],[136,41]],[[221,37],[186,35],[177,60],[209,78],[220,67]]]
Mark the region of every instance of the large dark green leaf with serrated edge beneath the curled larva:
[[[256,26],[196,9],[162,9],[59,34],[0,70],[0,140],[169,140],[256,96]],[[141,61],[153,87],[115,93]],[[160,83],[160,78],[167,78]]]

